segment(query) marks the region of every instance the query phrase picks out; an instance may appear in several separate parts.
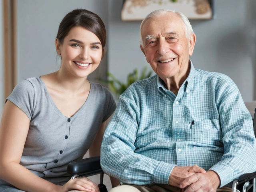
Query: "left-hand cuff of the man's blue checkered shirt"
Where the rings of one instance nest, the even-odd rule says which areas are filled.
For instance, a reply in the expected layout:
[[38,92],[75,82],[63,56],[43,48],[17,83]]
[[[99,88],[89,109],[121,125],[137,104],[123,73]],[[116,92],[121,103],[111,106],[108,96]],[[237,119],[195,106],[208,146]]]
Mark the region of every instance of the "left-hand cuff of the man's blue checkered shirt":
[[157,184],[169,184],[169,177],[174,168],[173,164],[168,164],[166,162],[160,162],[154,173],[154,183]]

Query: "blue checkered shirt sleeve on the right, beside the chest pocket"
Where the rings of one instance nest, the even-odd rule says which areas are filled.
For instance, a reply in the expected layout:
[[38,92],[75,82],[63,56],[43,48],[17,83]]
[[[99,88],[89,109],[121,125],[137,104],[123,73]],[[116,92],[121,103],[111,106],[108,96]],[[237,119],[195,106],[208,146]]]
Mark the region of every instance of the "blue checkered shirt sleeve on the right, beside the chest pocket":
[[241,174],[256,171],[256,142],[250,113],[246,109],[237,86],[224,82],[216,94],[220,114],[224,155],[211,170],[218,173],[221,186]]

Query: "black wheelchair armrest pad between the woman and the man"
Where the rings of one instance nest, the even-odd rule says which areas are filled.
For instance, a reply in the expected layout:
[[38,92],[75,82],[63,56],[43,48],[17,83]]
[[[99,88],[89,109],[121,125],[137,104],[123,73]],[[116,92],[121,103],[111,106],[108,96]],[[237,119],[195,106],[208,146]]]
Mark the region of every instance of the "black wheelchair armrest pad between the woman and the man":
[[100,157],[91,157],[72,161],[68,164],[67,172],[69,174],[83,174],[95,170],[101,170]]

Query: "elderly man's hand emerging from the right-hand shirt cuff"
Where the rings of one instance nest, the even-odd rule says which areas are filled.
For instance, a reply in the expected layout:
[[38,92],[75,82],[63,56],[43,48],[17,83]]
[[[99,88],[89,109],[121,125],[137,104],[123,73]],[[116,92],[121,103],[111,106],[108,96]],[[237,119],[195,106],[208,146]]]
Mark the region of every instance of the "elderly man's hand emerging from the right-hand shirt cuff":
[[209,170],[205,174],[196,173],[192,176],[189,176],[183,182],[181,182],[179,187],[182,189],[186,189],[182,190],[184,192],[216,192],[219,186],[219,175],[216,172]]

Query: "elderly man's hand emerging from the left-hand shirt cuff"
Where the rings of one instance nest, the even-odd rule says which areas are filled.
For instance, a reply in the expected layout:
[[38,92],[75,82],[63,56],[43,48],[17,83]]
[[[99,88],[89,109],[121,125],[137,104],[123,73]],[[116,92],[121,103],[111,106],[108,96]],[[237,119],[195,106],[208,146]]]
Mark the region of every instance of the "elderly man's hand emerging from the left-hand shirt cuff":
[[169,176],[169,185],[179,187],[184,179],[196,173],[204,174],[206,173],[206,170],[197,165],[186,167],[175,166]]

